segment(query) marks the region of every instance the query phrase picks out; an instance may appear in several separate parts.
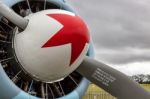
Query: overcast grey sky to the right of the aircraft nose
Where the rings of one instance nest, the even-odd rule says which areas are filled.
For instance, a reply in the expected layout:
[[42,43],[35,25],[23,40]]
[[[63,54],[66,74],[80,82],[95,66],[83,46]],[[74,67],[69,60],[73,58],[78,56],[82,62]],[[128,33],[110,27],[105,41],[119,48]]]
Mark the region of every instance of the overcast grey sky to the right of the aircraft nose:
[[150,74],[150,0],[67,0],[88,24],[96,59]]

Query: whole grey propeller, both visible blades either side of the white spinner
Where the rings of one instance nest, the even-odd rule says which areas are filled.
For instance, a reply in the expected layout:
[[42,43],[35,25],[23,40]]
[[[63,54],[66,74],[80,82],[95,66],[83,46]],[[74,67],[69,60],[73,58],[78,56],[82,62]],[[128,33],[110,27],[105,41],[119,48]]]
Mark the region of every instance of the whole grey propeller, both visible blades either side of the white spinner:
[[[28,25],[28,19],[25,19],[19,16],[18,14],[16,14],[9,7],[4,5],[2,1],[0,1],[0,14],[6,17],[7,19],[9,19],[12,23],[16,24],[19,28],[23,30],[25,30]],[[29,30],[25,32],[27,33],[29,32]],[[74,70],[75,69],[76,68],[74,68]],[[79,72],[84,77],[86,77],[91,82],[95,83],[96,85],[103,88],[104,90],[106,90],[107,92],[109,92],[110,94],[112,94],[113,96],[119,99],[149,99],[150,98],[150,93],[145,91],[142,87],[140,87],[139,84],[131,80],[129,77],[92,58],[85,57],[83,61],[81,61],[81,64],[78,66],[76,71]],[[68,75],[69,73],[70,72],[68,72]]]

